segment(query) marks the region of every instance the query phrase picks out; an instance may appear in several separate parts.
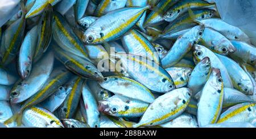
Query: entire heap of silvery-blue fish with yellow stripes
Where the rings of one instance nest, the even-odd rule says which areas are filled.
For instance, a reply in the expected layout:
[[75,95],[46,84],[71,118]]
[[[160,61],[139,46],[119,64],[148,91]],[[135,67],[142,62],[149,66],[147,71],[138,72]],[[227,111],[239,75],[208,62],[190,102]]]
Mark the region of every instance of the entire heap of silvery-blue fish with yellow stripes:
[[256,48],[214,3],[22,0],[0,42],[0,127],[256,126]]

